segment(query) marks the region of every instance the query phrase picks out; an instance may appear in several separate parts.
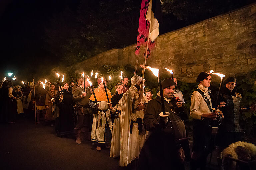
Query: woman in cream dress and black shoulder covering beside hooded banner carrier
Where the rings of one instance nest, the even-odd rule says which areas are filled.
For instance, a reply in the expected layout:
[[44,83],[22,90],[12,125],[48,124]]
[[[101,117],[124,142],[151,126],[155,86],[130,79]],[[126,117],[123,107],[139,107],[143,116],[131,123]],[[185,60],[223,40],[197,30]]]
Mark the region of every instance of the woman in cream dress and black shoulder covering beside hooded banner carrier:
[[113,124],[112,130],[112,139],[111,139],[111,147],[110,147],[110,157],[116,158],[120,156],[120,130],[121,130],[121,105],[122,105],[122,97],[124,88],[122,84],[117,84],[115,86],[116,93],[111,98],[111,104],[115,113],[115,121]]

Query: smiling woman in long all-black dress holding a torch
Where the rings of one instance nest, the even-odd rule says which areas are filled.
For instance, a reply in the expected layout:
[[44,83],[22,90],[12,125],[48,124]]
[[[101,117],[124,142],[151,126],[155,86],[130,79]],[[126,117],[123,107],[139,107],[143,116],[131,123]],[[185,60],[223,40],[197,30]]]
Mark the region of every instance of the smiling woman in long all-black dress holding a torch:
[[68,83],[63,83],[62,93],[59,94],[55,103],[59,108],[59,116],[56,118],[57,135],[70,136],[74,132],[73,94],[68,91]]

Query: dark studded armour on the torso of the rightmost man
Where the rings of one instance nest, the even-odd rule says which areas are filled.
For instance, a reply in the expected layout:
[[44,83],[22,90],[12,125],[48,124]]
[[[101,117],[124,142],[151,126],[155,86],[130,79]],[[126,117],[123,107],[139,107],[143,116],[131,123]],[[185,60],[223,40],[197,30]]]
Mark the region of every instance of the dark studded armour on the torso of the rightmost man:
[[223,128],[229,132],[240,132],[239,116],[242,96],[235,93],[234,96],[224,95],[226,106],[224,108]]

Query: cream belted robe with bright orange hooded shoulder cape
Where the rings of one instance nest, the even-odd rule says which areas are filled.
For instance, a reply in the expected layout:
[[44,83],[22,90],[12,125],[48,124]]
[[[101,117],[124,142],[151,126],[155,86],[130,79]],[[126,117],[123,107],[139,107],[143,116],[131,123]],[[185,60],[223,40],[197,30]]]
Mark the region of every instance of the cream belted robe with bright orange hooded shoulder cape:
[[[99,84],[99,87],[94,90],[94,93],[99,102],[99,108],[95,108],[95,99],[92,95],[89,98],[89,104],[92,109],[96,110],[96,113],[93,115],[91,141],[93,143],[110,144],[113,125],[110,117],[110,109],[107,104],[106,92],[105,89],[100,88]],[[111,100],[111,92],[108,88],[107,93],[109,100]]]

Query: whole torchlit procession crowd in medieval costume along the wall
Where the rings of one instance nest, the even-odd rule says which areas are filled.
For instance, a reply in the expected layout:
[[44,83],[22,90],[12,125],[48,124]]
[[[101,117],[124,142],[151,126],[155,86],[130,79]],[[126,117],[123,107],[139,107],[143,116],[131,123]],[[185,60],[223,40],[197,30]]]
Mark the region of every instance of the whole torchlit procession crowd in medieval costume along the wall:
[[[37,124],[43,120],[55,126],[57,136],[74,137],[77,144],[90,140],[97,151],[110,148],[110,157],[119,157],[120,166],[169,169],[171,165],[182,170],[184,161],[190,161],[191,170],[196,170],[206,168],[206,158],[215,145],[221,165],[223,149],[241,140],[239,114],[256,110],[255,105],[241,107],[242,96],[236,92],[233,77],[225,79],[221,97],[215,101],[208,89],[211,74],[201,72],[196,79],[198,88],[191,96],[189,113],[194,126],[190,154],[184,124],[189,115],[176,78],[162,81],[164,103],[160,92],[154,99],[150,89],[144,93],[140,85],[145,80],[140,76],[131,78],[131,87],[124,76],[114,94],[107,88],[105,77],[97,80],[95,89],[89,85],[89,76],[83,78],[62,85],[47,82],[45,89],[43,79],[35,86],[28,82],[24,87],[4,81],[0,89],[1,122],[13,124],[18,114],[30,118],[36,114]],[[218,112],[212,109],[216,103]],[[169,113],[166,116],[159,115],[162,105]]]

